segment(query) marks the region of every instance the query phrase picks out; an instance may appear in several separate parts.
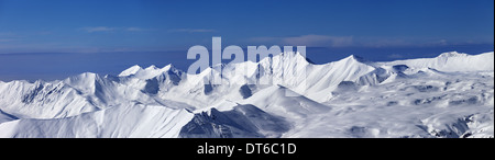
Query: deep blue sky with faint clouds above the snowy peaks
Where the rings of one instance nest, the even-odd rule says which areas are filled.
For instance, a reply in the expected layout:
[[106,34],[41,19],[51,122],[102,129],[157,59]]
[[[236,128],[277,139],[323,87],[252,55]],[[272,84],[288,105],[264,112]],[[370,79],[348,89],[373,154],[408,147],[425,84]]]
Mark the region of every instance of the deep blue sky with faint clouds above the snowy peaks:
[[[494,1],[0,0],[0,58],[4,61],[11,61],[12,54],[22,60],[19,54],[112,57],[101,53],[125,53],[132,59],[143,54],[130,53],[155,53],[144,55],[155,59],[153,56],[174,54],[168,57],[177,58],[134,64],[186,66],[187,49],[194,45],[211,47],[212,36],[221,36],[223,46],[305,45],[314,48],[316,59],[323,59],[318,62],[349,54],[372,60],[431,57],[452,49],[480,54],[493,50]],[[308,56],[311,58],[311,53]],[[112,73],[133,64],[108,59],[100,62],[113,64],[113,68],[88,60],[73,71]],[[13,64],[30,68],[33,61],[0,65],[0,80],[2,73],[8,77],[7,72],[14,72],[6,71],[14,69]],[[91,65],[111,69],[85,69]]]

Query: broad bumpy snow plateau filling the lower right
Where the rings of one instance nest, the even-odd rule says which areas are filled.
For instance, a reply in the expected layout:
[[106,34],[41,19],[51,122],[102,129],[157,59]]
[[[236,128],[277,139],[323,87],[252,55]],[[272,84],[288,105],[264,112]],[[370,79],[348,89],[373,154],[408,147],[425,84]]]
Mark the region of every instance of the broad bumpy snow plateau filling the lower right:
[[493,76],[396,79],[336,91],[332,111],[310,116],[286,137],[493,137]]

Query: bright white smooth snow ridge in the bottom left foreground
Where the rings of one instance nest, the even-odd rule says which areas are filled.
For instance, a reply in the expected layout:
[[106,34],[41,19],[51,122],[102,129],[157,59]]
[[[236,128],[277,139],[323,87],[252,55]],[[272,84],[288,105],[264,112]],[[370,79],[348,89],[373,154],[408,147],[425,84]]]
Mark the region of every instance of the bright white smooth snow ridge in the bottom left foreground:
[[66,118],[11,121],[0,125],[0,137],[174,138],[193,116],[185,110],[163,106],[114,106]]

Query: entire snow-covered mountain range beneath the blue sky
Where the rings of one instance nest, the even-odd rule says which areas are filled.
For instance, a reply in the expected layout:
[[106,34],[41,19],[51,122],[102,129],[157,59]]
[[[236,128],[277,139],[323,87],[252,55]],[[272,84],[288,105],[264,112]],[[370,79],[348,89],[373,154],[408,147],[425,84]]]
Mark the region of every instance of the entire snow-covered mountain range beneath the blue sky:
[[493,138],[494,53],[324,65],[284,53],[198,75],[0,81],[0,137]]

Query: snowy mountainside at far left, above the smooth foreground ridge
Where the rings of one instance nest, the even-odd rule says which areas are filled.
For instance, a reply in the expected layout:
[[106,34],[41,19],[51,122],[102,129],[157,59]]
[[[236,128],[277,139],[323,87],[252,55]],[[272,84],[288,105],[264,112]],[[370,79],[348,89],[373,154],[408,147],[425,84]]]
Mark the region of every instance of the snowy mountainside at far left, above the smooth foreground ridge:
[[1,110],[16,117],[66,117],[98,110],[91,99],[61,81],[12,81],[0,85],[0,93]]

